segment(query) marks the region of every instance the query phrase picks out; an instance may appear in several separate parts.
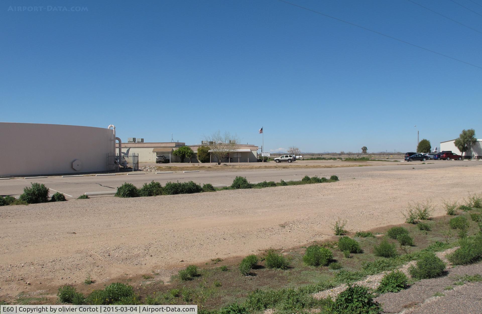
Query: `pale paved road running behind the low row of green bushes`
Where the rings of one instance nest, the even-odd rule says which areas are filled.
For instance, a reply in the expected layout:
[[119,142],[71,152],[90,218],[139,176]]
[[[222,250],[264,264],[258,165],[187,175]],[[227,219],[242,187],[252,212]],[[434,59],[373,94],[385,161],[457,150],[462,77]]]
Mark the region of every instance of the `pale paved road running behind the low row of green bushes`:
[[211,183],[214,187],[230,185],[236,176],[245,176],[252,183],[261,181],[280,181],[281,179],[299,180],[303,176],[325,176],[337,175],[340,179],[351,179],[353,177],[366,177],[378,171],[390,170],[412,170],[440,167],[460,167],[460,166],[482,166],[482,163],[472,161],[438,161],[434,163],[422,164],[413,163],[387,163],[386,165],[356,166],[356,167],[336,167],[336,168],[283,168],[283,169],[255,169],[246,171],[201,171],[201,172],[174,172],[171,174],[137,174],[116,176],[81,176],[81,177],[48,177],[37,179],[12,178],[0,180],[0,195],[20,195],[25,186],[30,182],[45,184],[51,189],[51,194],[58,191],[66,195],[66,198],[77,198],[85,192],[115,191],[124,182],[133,183],[141,187],[144,183],[152,180],[164,185],[166,182],[186,182],[194,181],[198,184]]

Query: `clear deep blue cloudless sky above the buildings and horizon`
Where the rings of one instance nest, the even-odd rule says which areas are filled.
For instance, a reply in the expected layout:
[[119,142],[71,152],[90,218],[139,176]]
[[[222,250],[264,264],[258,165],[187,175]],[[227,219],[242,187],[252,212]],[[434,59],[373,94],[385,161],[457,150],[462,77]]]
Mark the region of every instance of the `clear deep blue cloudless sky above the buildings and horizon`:
[[[414,1],[482,32],[452,1]],[[482,14],[482,0],[455,1]],[[481,33],[408,0],[292,2],[482,67]],[[188,144],[226,130],[259,146],[263,126],[266,151],[482,133],[480,68],[278,0],[142,3],[2,1],[0,121]]]

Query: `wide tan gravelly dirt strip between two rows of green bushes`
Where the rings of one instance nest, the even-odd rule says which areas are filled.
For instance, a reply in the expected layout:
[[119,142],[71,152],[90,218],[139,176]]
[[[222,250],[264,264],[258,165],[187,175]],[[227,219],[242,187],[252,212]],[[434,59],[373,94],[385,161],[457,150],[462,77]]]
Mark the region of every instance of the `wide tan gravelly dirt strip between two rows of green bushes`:
[[[192,195],[0,207],[0,299],[98,283],[267,248],[328,239],[337,217],[352,231],[399,224],[409,201],[480,193],[482,167],[343,173],[340,181]],[[181,262],[182,260],[182,262]],[[128,275],[127,275],[128,274]],[[30,283],[30,284],[28,284]]]

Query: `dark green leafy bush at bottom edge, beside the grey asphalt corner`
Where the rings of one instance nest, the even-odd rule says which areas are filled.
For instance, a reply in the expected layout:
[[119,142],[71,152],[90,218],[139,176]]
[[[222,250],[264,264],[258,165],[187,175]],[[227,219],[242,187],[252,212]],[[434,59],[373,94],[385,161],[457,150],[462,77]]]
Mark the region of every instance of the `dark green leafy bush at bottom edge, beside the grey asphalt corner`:
[[380,313],[374,295],[364,286],[349,286],[341,292],[333,305],[333,313]]

